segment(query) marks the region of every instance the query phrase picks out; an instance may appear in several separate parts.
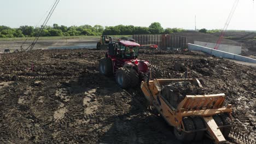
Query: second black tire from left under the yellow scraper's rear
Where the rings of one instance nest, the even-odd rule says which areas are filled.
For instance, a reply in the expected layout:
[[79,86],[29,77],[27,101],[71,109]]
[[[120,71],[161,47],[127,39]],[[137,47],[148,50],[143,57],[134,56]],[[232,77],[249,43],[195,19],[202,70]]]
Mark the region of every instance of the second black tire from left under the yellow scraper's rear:
[[[195,124],[196,130],[206,128],[205,122],[203,121],[203,119],[201,117],[193,117],[192,119]],[[195,140],[196,141],[202,140],[204,135],[205,135],[205,131],[197,131]]]

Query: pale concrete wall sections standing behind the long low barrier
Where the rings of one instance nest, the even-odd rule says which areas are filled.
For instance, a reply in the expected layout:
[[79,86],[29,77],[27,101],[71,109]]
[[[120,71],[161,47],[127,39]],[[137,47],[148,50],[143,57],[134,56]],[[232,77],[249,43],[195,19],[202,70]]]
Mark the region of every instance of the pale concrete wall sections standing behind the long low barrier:
[[[206,43],[206,42],[202,42],[202,41],[194,41],[195,45],[200,45],[200,46],[205,46],[208,47],[210,49],[214,49],[214,47],[216,46],[216,44],[214,43]],[[229,52],[229,53],[234,53],[236,55],[240,55],[242,53],[242,47],[241,46],[235,46],[235,45],[219,45],[219,49],[220,51],[225,51],[225,52]]]

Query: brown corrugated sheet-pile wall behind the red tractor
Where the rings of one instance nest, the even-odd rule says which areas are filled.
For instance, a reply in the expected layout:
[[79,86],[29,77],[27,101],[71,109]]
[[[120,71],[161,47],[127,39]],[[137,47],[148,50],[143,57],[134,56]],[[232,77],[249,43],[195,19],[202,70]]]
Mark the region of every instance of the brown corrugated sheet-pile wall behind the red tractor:
[[161,49],[187,49],[188,38],[172,34],[132,35],[132,38],[141,45],[157,44]]

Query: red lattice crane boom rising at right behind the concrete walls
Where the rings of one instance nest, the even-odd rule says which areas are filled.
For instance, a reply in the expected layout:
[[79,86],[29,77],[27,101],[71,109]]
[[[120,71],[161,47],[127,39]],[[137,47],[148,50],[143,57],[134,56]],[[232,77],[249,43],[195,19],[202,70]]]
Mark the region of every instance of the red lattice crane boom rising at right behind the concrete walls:
[[224,34],[225,34],[225,32],[226,32],[226,29],[228,29],[228,27],[229,27],[229,23],[230,23],[230,21],[231,21],[233,15],[234,15],[234,13],[235,13],[235,10],[236,10],[236,8],[237,8],[238,2],[239,2],[239,0],[236,0],[235,3],[233,4],[233,7],[232,7],[232,9],[231,9],[231,11],[230,11],[230,14],[229,14],[229,17],[228,17],[228,20],[226,20],[225,26],[224,26],[224,28],[222,29],[222,32],[220,33],[219,39],[217,40],[217,43],[216,43],[216,45],[215,45],[215,47],[214,47],[215,50],[218,50],[220,43],[222,43]]

